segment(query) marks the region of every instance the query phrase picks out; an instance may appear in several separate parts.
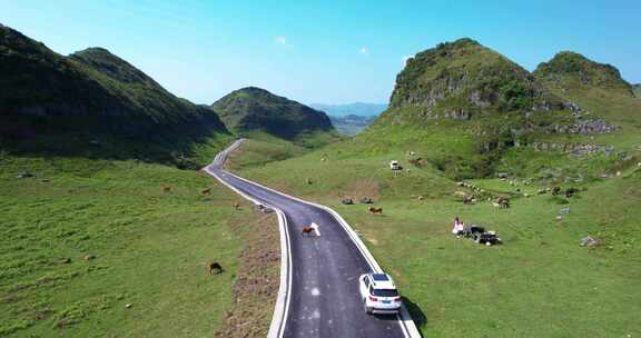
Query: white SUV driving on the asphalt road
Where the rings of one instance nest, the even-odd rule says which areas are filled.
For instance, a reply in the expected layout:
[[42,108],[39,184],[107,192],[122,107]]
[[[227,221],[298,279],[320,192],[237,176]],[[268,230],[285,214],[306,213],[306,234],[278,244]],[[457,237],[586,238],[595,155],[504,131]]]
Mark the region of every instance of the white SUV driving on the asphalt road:
[[362,275],[358,287],[366,314],[397,314],[401,309],[401,296],[388,275]]

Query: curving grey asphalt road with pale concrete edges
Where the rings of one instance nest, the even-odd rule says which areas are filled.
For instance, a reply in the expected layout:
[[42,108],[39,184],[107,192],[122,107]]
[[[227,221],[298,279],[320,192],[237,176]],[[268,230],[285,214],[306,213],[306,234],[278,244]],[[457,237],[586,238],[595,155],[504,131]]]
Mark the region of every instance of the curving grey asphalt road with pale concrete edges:
[[[269,337],[420,337],[405,308],[400,316],[364,312],[357,278],[381,268],[341,216],[221,169],[240,142],[218,153],[204,170],[278,213],[282,282]],[[300,229],[312,222],[319,226],[320,236],[303,237]]]

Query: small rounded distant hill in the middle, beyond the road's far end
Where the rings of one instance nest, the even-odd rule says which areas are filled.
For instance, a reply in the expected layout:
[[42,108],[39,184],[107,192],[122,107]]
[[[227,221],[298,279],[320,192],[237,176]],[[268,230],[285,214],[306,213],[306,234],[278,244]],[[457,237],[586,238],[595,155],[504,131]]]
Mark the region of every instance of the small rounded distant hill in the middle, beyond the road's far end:
[[334,131],[324,112],[256,87],[233,91],[211,108],[239,133],[264,131],[292,140],[308,132]]

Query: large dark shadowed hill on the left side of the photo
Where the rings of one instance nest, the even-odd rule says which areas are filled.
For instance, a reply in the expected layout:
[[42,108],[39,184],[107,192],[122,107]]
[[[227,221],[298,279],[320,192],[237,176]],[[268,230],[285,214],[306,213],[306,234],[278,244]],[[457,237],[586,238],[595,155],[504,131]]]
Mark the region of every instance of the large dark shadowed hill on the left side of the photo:
[[[62,148],[51,141],[65,141],[72,143],[66,155],[83,156],[131,142],[155,150],[148,160],[179,163],[194,157],[195,143],[230,139],[214,111],[175,97],[105,49],[63,57],[0,26],[0,147],[14,152],[51,153]],[[118,156],[141,158],[127,147]]]

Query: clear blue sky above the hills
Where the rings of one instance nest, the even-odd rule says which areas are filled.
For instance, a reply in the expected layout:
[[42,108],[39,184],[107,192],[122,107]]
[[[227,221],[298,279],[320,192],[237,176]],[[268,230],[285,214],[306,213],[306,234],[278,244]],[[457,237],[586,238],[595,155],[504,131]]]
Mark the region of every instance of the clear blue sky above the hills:
[[0,0],[0,22],[62,54],[105,47],[197,103],[245,86],[386,102],[404,57],[463,37],[529,70],[572,50],[641,82],[639,0]]

